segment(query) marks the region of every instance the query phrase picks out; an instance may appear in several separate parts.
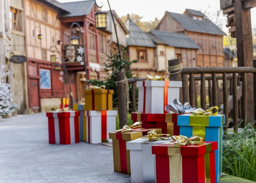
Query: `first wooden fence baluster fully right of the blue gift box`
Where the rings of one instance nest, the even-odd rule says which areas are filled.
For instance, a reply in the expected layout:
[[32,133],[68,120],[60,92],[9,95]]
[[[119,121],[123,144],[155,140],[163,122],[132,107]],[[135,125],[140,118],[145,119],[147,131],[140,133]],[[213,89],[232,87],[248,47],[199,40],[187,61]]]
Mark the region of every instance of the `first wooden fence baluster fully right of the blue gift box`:
[[238,125],[238,96],[237,96],[237,78],[236,73],[233,74],[233,122],[234,130],[237,131]]

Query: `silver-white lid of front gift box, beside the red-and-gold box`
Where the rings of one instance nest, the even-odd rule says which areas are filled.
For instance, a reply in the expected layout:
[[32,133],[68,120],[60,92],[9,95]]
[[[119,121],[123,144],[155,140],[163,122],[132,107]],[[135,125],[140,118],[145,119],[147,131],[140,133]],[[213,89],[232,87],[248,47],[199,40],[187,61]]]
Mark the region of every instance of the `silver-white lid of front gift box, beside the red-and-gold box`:
[[169,140],[149,141],[148,139],[139,138],[126,142],[126,148],[128,150],[151,150],[152,145],[161,144],[168,141],[172,141],[172,139],[169,138]]

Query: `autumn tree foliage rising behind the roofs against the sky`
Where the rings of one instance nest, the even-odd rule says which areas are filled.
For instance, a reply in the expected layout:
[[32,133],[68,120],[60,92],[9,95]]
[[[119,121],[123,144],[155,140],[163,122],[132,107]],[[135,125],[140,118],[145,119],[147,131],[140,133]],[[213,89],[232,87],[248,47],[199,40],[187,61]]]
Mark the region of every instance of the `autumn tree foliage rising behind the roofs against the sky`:
[[[122,16],[120,19],[122,22],[125,22],[127,18],[128,15],[125,15]],[[155,20],[151,20],[149,22],[142,22],[141,19],[143,18],[143,16],[139,16],[134,13],[129,15],[129,18],[145,32],[148,32],[150,29],[155,29],[160,22],[160,19],[158,19],[157,17],[155,17]]]

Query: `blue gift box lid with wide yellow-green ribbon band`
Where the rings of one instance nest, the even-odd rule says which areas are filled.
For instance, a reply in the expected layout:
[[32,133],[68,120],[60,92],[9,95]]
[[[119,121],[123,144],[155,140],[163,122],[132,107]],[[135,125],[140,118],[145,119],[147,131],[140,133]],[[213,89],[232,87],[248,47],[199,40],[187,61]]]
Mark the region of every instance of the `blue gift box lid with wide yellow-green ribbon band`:
[[215,126],[224,125],[225,115],[217,114],[212,116],[183,114],[178,116],[178,125],[180,126]]

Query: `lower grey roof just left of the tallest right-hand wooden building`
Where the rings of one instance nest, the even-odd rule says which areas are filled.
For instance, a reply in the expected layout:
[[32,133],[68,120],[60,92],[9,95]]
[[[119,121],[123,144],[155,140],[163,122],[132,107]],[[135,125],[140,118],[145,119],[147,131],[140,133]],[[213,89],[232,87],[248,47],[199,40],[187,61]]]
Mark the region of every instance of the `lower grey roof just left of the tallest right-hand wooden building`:
[[160,30],[150,30],[150,33],[153,34],[158,40],[166,42],[167,46],[190,49],[200,48],[195,42],[193,42],[192,39],[183,33],[166,32]]

